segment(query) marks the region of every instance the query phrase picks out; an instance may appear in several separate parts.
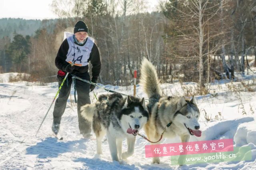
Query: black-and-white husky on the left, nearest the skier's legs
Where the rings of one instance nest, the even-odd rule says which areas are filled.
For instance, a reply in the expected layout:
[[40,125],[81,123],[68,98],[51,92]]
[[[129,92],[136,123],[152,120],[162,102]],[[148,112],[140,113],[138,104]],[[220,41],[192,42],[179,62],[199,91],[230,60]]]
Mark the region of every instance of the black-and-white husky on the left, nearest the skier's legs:
[[[96,134],[97,154],[102,154],[101,142],[107,134],[113,161],[125,159],[133,154],[135,136],[149,118],[144,98],[128,96],[124,99],[119,93],[100,95],[96,103],[84,105],[81,111],[85,119],[92,121],[92,129]],[[128,150],[122,153],[124,138],[127,139]]]

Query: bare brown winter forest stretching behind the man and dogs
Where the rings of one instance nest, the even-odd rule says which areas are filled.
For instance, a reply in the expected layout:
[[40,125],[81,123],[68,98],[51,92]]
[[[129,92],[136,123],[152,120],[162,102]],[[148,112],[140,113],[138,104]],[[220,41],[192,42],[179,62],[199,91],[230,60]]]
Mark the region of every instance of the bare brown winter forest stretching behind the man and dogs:
[[60,19],[0,19],[0,72],[55,81],[47,77],[56,75],[54,60],[64,31],[73,32],[77,20],[86,22],[100,49],[102,84],[130,85],[143,57],[156,66],[161,82],[193,81],[200,88],[250,69],[247,56],[256,57],[255,0],[168,0],[152,13],[146,4],[53,0]]

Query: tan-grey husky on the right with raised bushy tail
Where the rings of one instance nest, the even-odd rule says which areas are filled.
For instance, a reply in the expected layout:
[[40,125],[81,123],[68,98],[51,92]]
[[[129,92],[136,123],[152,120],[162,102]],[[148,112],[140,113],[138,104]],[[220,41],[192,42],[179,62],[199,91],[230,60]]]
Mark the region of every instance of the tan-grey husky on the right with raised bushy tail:
[[[188,101],[184,96],[162,96],[156,69],[146,58],[142,61],[140,71],[140,85],[149,98],[147,107],[150,117],[144,126],[149,140],[158,141],[165,127],[163,137],[166,138],[174,138],[178,135],[182,142],[188,142],[191,135],[201,136],[198,123],[200,112],[195,97]],[[169,123],[171,125],[167,127]],[[160,142],[154,144],[160,144]],[[179,164],[183,164],[182,161],[178,159]],[[159,157],[154,157],[153,163],[159,164]]]

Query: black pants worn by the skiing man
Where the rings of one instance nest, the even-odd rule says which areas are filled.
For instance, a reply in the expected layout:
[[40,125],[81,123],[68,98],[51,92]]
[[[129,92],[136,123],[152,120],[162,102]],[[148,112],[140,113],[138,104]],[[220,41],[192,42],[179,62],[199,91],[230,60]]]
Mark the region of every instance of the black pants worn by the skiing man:
[[[82,75],[76,75],[82,79],[90,81],[89,73],[83,73]],[[59,87],[63,81],[65,76],[58,75],[58,83]],[[80,107],[85,104],[90,104],[90,84],[84,81],[75,79],[76,91],[77,91],[77,114],[78,114],[78,124],[80,133],[90,133],[91,132],[91,123],[84,119],[81,116]],[[53,121],[54,123],[60,123],[61,117],[66,109],[66,104],[68,101],[68,96],[70,94],[70,89],[72,85],[72,75],[69,74],[66,81],[64,82],[62,88],[60,89],[60,93],[58,98],[56,99],[53,111]]]

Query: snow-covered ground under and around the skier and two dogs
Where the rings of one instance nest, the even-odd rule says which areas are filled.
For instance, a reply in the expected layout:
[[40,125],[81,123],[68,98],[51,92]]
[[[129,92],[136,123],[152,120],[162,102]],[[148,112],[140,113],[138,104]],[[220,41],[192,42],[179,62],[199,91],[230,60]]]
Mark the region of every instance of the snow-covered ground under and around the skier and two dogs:
[[[211,85],[213,95],[196,96],[201,109],[201,137],[192,137],[191,141],[233,138],[234,146],[250,146],[252,160],[239,162],[204,163],[173,166],[169,156],[160,158],[161,164],[151,164],[152,158],[145,157],[144,146],[149,142],[138,136],[134,154],[127,160],[112,162],[108,142],[102,143],[103,155],[96,155],[96,140],[84,139],[79,133],[77,108],[70,99],[62,117],[59,136],[54,138],[51,130],[52,111],[50,109],[38,135],[35,136],[52,100],[58,91],[57,83],[38,86],[39,83],[25,81],[8,83],[8,74],[2,74],[0,83],[0,169],[256,169],[256,92],[231,91],[231,82],[218,82]],[[253,80],[254,77],[250,77]],[[230,83],[227,85],[226,83]],[[193,91],[194,83],[180,85],[162,84],[168,95],[187,95],[184,87]],[[133,86],[105,88],[133,94]],[[220,88],[221,87],[221,88]],[[96,95],[107,93],[96,88]],[[137,85],[137,96],[146,97]],[[95,102],[93,93],[92,102]],[[206,117],[209,121],[206,121]],[[246,115],[243,113],[246,113]],[[140,133],[144,134],[142,130]],[[179,138],[164,139],[162,143],[180,142]],[[123,150],[126,150],[123,141]]]

